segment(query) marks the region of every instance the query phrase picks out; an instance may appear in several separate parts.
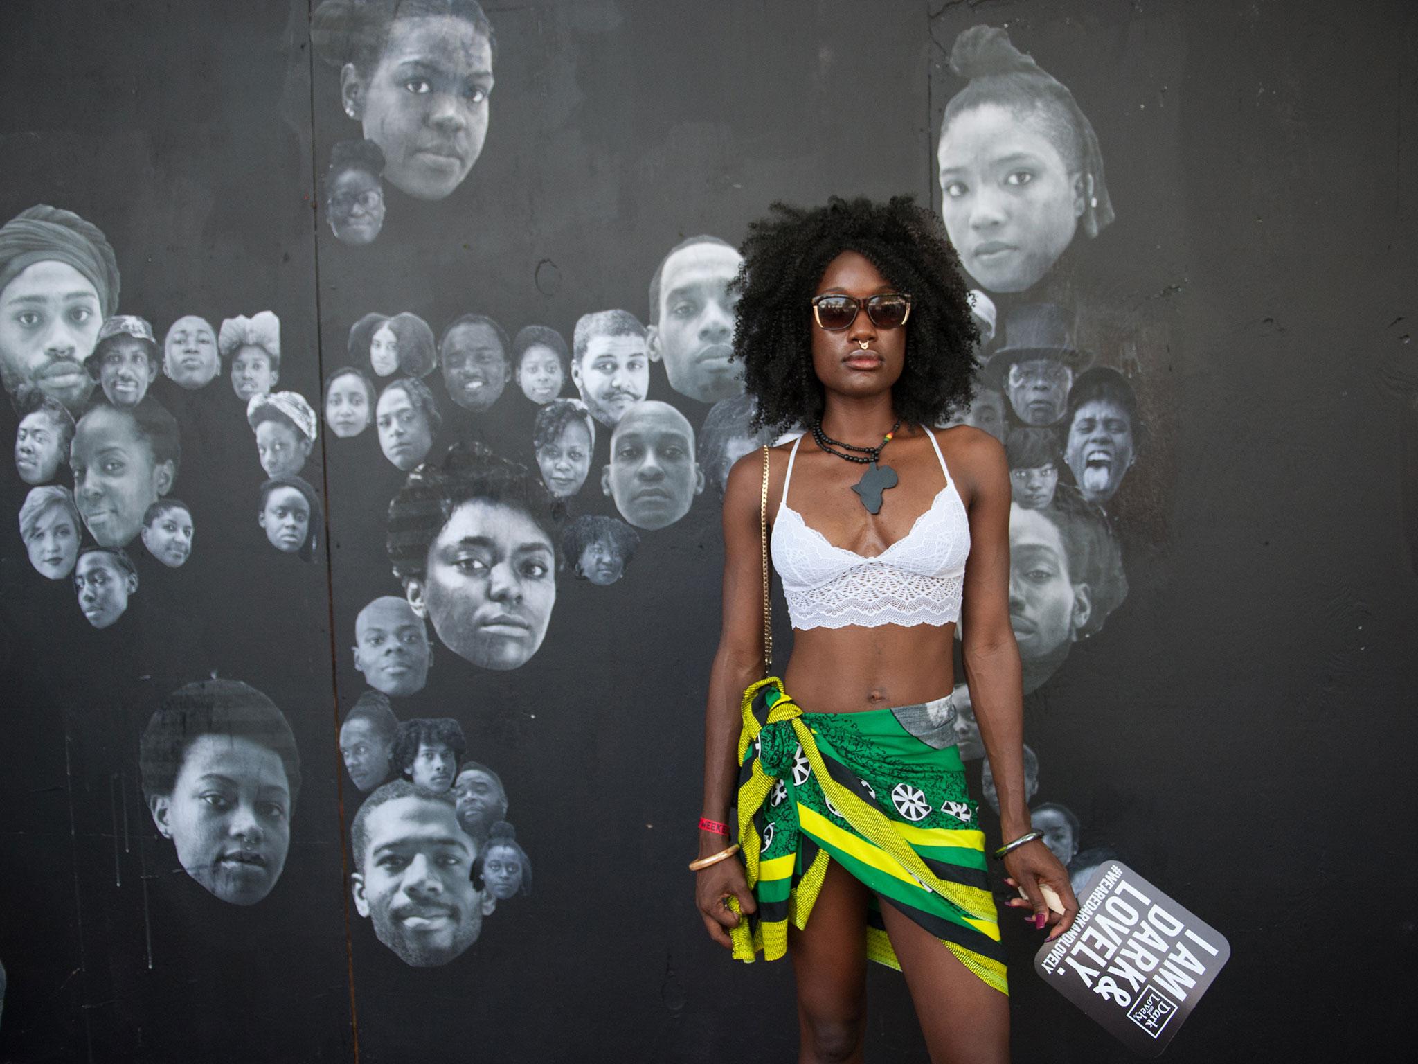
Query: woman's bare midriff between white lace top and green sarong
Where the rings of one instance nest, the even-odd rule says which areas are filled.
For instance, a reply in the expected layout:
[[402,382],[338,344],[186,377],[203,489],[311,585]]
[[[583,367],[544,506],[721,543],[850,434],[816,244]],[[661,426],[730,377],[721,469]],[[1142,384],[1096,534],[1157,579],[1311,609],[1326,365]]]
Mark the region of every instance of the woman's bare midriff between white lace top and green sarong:
[[917,705],[954,687],[954,624],[793,630],[783,687],[805,712]]

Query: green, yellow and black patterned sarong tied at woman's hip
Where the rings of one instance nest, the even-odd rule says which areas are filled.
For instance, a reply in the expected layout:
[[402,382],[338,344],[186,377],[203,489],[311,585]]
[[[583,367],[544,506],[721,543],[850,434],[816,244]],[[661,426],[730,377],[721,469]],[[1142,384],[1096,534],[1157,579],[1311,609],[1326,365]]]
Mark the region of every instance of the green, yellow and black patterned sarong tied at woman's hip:
[[732,931],[737,960],[787,952],[788,921],[807,926],[835,860],[873,894],[868,958],[900,969],[885,902],[1010,992],[984,831],[953,745],[925,742],[893,709],[805,714],[770,677],[744,692],[739,765],[740,855],[759,911]]

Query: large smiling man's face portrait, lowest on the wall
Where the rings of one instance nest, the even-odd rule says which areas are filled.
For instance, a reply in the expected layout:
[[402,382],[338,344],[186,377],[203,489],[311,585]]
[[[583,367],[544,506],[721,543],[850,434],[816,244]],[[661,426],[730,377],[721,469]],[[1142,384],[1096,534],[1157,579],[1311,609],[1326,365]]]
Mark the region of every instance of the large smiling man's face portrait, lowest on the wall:
[[457,960],[496,899],[474,881],[476,844],[448,793],[394,780],[364,799],[350,830],[354,911],[411,968]]

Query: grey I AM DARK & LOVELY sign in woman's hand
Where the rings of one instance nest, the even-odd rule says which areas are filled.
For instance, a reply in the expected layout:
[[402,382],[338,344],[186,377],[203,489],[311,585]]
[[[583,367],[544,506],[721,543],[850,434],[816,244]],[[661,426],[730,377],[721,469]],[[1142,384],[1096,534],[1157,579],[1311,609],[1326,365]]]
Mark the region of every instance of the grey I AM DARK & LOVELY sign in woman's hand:
[[1079,902],[1068,933],[1035,955],[1035,970],[1124,1046],[1160,1055],[1231,945],[1122,861],[1102,865]]

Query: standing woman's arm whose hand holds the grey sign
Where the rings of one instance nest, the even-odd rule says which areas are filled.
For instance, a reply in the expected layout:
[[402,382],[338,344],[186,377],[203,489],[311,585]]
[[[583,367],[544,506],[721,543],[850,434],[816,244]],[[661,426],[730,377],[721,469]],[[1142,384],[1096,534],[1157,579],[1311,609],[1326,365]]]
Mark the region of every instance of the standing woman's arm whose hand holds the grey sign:
[[[994,437],[974,428],[954,433],[961,437],[957,453],[963,460],[953,468],[970,514],[970,556],[960,611],[966,682],[1000,796],[1001,843],[1010,843],[1031,830],[1024,790],[1024,681],[1020,648],[1010,627],[1010,470]],[[1025,894],[1010,904],[1031,908],[1039,928],[1055,924],[1051,939],[1068,931],[1078,899],[1068,871],[1044,841],[1010,851],[1004,865],[1010,872],[1007,882]],[[1049,909],[1041,884],[1058,894],[1062,915]]]

